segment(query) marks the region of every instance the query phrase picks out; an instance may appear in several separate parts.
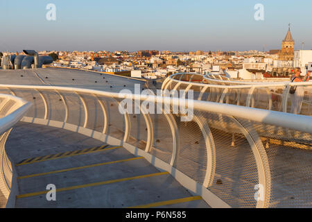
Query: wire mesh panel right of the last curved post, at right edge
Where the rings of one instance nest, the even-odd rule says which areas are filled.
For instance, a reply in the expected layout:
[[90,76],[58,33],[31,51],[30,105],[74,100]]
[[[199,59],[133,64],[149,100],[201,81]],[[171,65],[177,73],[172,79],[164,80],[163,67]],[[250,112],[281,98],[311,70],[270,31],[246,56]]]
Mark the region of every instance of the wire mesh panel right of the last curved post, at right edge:
[[312,207],[312,135],[250,122],[266,147],[271,173],[269,207]]

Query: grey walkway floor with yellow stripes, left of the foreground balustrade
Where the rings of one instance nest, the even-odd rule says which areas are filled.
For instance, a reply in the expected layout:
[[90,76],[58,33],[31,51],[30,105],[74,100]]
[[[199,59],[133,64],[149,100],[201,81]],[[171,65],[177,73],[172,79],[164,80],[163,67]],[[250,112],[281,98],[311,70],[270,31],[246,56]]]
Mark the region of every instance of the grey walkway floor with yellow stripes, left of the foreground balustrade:
[[[209,207],[143,157],[78,133],[20,122],[6,151],[17,169],[16,207]],[[47,200],[47,185],[56,200]]]

